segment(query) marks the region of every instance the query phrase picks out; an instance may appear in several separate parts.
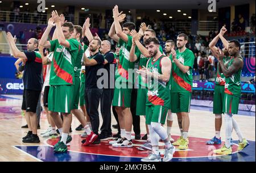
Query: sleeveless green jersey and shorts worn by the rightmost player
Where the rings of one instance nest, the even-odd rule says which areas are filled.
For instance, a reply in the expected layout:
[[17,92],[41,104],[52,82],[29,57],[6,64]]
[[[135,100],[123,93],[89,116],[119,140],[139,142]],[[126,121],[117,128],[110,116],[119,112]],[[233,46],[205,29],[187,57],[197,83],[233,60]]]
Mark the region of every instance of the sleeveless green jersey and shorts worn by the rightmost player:
[[[243,60],[242,57],[237,58]],[[233,61],[234,58],[231,58],[228,62],[228,69],[233,64]],[[222,110],[225,113],[237,114],[238,112],[239,100],[241,97],[241,71],[242,69],[225,79],[225,96]]]

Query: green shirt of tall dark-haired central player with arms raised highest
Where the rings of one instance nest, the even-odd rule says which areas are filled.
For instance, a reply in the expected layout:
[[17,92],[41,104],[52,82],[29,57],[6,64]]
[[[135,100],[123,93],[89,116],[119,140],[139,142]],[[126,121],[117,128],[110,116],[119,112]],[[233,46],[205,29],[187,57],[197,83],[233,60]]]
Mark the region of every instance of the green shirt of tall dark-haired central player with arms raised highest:
[[[118,82],[130,82],[133,83],[133,76],[129,78],[128,70],[134,69],[135,62],[129,61],[130,49],[132,45],[132,39],[130,35],[127,35],[127,43],[122,39],[119,39],[120,51],[119,51],[119,61],[117,65],[117,70],[115,70],[115,81]],[[136,50],[135,50],[136,52]],[[132,72],[132,71],[131,71]]]

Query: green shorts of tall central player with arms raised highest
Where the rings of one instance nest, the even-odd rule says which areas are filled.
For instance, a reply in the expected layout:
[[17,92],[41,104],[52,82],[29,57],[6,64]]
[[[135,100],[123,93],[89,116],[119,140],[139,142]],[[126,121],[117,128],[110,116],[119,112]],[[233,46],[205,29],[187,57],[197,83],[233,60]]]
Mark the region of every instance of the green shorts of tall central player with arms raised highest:
[[130,108],[131,106],[131,88],[114,89],[113,106]]

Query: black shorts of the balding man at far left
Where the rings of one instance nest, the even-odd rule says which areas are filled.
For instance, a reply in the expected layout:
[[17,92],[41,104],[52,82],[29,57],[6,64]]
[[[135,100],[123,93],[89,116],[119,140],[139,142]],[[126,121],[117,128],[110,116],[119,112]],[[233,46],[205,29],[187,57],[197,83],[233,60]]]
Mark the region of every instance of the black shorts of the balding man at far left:
[[23,91],[22,110],[26,112],[36,112],[38,99],[41,91],[27,90]]

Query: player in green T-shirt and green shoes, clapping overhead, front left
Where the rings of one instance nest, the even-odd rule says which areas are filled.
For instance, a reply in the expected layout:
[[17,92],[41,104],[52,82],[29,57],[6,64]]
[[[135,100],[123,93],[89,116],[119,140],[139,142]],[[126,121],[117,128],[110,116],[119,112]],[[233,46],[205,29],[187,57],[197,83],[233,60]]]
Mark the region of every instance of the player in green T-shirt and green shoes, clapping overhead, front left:
[[[57,39],[47,41],[53,22],[56,24]],[[72,122],[71,109],[75,83],[73,62],[79,52],[79,42],[72,38],[73,29],[73,24],[69,22],[61,27],[57,11],[52,11],[52,18],[49,19],[46,31],[40,40],[40,45],[54,51],[49,81],[51,98],[48,98],[48,109],[61,134],[61,140],[54,146],[56,153],[67,152],[67,143],[71,141],[68,133]],[[63,115],[63,124],[58,112]]]

